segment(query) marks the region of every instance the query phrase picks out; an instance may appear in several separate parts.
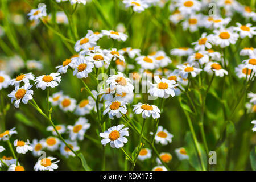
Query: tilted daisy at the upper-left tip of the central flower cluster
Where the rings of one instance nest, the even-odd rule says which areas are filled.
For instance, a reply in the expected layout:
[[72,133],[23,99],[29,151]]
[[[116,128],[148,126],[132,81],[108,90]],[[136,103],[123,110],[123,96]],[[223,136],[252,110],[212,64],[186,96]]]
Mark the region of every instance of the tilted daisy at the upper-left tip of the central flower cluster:
[[76,52],[79,52],[81,49],[86,50],[89,47],[94,47],[96,46],[96,42],[98,41],[98,39],[98,36],[90,35],[88,33],[85,37],[81,38],[80,40],[77,40],[74,49]]

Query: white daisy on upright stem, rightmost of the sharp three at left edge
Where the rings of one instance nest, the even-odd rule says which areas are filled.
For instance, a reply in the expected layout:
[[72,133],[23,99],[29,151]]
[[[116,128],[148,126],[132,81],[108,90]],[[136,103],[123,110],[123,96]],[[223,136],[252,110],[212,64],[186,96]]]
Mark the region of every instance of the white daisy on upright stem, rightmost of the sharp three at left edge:
[[36,88],[41,88],[42,90],[45,90],[46,87],[54,88],[55,86],[58,86],[58,82],[61,81],[59,76],[60,73],[51,73],[50,75],[42,75],[35,78],[35,84]]

